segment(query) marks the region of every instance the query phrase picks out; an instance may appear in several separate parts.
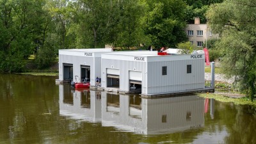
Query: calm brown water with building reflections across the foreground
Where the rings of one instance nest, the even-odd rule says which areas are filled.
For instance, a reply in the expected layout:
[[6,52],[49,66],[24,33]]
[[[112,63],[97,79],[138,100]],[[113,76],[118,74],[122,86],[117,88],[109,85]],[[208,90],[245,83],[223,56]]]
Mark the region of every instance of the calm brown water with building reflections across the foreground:
[[0,74],[0,143],[256,143],[256,108],[196,95],[141,99]]

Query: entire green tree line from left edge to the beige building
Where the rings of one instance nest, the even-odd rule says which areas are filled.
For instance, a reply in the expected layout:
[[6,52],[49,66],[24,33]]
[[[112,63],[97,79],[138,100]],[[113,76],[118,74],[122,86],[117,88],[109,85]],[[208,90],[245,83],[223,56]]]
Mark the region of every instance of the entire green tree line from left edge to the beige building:
[[37,68],[49,67],[58,49],[173,47],[186,41],[189,8],[204,13],[204,4],[220,1],[199,2],[0,0],[0,71],[24,71],[31,54]]

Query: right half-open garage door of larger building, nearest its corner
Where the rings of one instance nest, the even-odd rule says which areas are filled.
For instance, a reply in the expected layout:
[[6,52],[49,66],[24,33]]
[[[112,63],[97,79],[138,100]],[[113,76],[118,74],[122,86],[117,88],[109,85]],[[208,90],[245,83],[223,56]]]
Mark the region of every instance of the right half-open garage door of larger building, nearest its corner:
[[142,74],[137,71],[129,71],[130,93],[141,93]]

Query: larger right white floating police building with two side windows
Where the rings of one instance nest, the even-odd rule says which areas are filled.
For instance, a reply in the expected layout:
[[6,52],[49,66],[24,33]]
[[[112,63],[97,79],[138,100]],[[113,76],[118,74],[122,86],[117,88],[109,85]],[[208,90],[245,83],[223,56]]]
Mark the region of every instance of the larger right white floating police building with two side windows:
[[108,52],[101,56],[104,90],[164,95],[205,88],[204,54],[160,56],[157,51]]

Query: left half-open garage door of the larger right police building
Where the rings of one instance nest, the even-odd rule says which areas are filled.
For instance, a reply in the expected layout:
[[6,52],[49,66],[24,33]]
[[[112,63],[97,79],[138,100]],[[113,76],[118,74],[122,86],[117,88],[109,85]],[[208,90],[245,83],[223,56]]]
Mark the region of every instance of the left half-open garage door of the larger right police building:
[[118,69],[107,68],[107,87],[108,88],[119,88],[119,75]]

